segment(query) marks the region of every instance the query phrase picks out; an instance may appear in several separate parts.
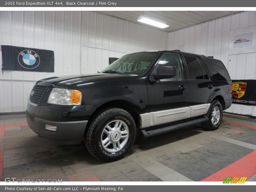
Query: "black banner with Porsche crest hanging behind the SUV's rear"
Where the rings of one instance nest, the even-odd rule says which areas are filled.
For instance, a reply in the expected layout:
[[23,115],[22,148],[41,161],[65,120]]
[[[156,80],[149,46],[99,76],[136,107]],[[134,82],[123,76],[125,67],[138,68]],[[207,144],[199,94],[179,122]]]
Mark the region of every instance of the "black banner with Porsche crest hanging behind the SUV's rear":
[[256,80],[232,80],[233,103],[256,105]]

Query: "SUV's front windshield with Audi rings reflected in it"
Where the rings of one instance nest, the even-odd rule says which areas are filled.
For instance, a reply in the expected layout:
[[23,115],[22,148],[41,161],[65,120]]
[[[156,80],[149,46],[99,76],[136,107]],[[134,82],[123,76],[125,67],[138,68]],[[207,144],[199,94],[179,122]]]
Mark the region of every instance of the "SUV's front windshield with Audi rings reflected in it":
[[144,73],[152,61],[155,59],[157,52],[140,52],[124,55],[114,61],[101,73]]

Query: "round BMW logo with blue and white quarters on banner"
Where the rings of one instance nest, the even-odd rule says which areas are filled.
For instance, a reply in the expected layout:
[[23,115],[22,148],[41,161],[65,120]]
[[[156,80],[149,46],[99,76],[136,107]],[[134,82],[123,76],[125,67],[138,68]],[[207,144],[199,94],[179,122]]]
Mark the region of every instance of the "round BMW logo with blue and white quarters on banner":
[[32,50],[23,50],[18,55],[20,65],[26,69],[34,69],[40,63],[39,55]]

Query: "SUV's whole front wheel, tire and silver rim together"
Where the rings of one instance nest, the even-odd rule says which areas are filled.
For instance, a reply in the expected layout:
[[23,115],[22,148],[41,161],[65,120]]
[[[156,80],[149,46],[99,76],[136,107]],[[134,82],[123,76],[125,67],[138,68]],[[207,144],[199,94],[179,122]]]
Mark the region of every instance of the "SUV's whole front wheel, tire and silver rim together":
[[92,156],[101,161],[116,161],[131,150],[136,138],[132,116],[121,108],[100,111],[91,122],[85,145]]

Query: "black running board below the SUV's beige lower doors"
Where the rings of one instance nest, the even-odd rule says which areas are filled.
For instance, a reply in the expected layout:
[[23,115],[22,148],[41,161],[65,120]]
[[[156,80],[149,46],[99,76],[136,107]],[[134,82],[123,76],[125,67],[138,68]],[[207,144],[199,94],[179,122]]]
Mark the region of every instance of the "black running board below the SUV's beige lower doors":
[[184,122],[184,123],[171,125],[171,126],[168,126],[168,127],[154,129],[154,130],[151,130],[151,131],[146,131],[145,129],[142,129],[140,131],[142,133],[142,136],[144,138],[147,138],[147,137],[152,137],[152,136],[155,136],[155,135],[160,135],[162,133],[174,131],[174,130],[177,130],[177,129],[180,129],[180,128],[188,127],[188,126],[191,126],[191,125],[204,123],[208,120],[209,120],[209,118],[207,116],[203,116],[200,119],[195,119],[195,120],[187,121],[187,122]]

